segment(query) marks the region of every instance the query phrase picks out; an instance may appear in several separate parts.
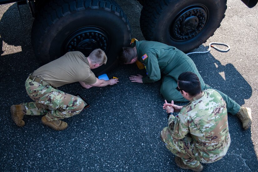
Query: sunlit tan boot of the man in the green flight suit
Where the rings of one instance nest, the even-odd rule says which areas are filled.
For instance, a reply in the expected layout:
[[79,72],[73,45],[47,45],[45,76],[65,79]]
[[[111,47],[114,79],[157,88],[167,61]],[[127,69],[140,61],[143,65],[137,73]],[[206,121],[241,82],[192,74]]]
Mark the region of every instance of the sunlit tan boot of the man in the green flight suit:
[[241,120],[243,129],[248,129],[252,124],[252,111],[250,108],[240,107],[236,116]]

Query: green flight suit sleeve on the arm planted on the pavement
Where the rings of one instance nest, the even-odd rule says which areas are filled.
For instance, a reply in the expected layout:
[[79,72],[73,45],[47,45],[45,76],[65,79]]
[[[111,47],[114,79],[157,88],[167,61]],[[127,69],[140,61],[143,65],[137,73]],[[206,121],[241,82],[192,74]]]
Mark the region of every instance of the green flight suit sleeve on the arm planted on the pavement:
[[146,67],[147,76],[142,79],[143,83],[153,83],[161,78],[158,59],[156,54],[147,53],[147,58],[143,61]]

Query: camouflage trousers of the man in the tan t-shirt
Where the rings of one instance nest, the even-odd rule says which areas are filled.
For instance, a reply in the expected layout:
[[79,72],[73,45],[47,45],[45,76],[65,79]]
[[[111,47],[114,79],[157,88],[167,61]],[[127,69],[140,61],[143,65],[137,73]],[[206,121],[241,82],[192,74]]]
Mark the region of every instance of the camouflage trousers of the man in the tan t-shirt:
[[25,88],[29,97],[35,101],[25,103],[26,115],[46,115],[48,120],[58,120],[79,114],[85,106],[82,99],[51,86],[32,82],[30,78],[27,78]]

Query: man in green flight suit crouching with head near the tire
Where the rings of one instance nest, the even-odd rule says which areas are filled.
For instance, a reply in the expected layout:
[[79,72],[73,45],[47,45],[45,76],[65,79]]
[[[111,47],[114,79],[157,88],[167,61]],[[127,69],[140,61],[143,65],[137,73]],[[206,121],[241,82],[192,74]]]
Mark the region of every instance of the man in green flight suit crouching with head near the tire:
[[[154,41],[137,41],[132,39],[130,47],[124,47],[119,59],[124,64],[133,64],[139,61],[145,65],[146,76],[130,76],[132,82],[153,83],[161,76],[160,93],[166,100],[188,101],[177,90],[177,78],[183,72],[193,72],[200,80],[201,89],[213,89],[205,84],[193,60],[179,49]],[[252,123],[251,109],[241,107],[226,94],[220,93],[227,104],[227,112],[236,115],[242,122],[243,129],[248,129]]]

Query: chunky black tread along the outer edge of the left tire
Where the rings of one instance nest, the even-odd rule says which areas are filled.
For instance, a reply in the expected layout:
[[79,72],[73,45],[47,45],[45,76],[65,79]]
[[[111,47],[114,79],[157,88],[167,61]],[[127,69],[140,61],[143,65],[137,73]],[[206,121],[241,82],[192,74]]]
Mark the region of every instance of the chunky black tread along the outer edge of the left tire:
[[33,49],[36,58],[40,62],[41,60],[39,58],[40,54],[38,53],[38,45],[43,42],[44,36],[48,34],[51,26],[53,26],[60,18],[85,9],[101,9],[114,13],[124,21],[129,33],[131,33],[131,27],[126,15],[113,0],[53,0],[39,11],[32,26],[31,37]]

